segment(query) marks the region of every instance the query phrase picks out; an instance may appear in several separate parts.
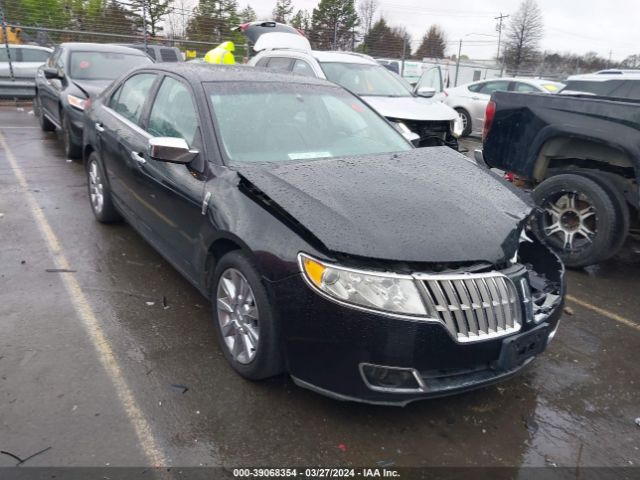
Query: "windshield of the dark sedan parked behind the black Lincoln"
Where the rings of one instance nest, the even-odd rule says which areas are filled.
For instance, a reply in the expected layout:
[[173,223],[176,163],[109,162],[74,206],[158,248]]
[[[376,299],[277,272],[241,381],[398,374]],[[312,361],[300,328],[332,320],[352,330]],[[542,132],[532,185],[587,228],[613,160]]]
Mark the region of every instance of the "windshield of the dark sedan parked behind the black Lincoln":
[[75,80],[115,80],[139,65],[153,63],[144,55],[113,52],[72,52],[69,76]]

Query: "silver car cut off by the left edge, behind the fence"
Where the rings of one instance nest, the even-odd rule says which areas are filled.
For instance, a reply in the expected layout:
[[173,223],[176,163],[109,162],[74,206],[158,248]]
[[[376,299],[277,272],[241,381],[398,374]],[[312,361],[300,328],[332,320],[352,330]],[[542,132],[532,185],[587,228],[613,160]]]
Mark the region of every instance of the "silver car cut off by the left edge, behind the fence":
[[9,45],[13,77],[9,69],[7,49],[0,45],[0,97],[33,98],[35,96],[36,71],[47,61],[51,49],[36,45]]

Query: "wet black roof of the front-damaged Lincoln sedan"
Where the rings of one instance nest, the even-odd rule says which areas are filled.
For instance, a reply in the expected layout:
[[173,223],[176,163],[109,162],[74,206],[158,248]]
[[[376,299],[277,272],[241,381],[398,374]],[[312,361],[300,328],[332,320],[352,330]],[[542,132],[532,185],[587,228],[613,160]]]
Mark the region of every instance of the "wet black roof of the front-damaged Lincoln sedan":
[[202,82],[281,82],[301,85],[318,85],[341,88],[335,83],[290,72],[269,70],[248,65],[214,65],[204,62],[155,63],[139,67],[140,70],[156,70],[175,73],[194,83]]

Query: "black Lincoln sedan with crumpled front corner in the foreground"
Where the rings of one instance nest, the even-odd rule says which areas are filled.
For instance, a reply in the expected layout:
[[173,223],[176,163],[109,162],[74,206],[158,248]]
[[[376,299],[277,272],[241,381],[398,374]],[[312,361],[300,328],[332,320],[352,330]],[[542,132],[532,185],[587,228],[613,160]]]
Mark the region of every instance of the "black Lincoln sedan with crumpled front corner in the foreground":
[[532,206],[334,84],[145,67],[84,131],[96,218],[124,218],[211,299],[246,378],[403,405],[504,379],[556,332],[564,268],[527,234]]

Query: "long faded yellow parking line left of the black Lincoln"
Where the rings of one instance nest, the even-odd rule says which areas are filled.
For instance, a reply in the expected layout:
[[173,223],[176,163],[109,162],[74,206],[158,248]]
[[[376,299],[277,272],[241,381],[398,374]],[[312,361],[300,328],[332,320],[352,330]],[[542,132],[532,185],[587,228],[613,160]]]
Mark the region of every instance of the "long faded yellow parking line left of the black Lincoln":
[[[0,146],[2,146],[2,149],[5,151],[7,160],[11,164],[13,173],[15,174],[16,179],[18,180],[18,183],[23,190],[22,193],[27,199],[27,204],[29,206],[31,214],[35,218],[40,232],[42,233],[42,236],[44,237],[47,246],[51,251],[51,255],[53,256],[56,268],[70,269],[71,266],[64,255],[60,241],[58,240],[56,234],[53,232],[51,225],[42,212],[42,209],[36,202],[35,197],[29,191],[26,177],[22,173],[20,165],[16,161],[16,158],[7,145],[7,142],[2,133],[0,133]],[[96,317],[91,304],[87,300],[87,297],[84,295],[84,292],[82,291],[80,284],[76,280],[76,277],[74,275],[62,274],[60,278],[64,283],[64,286],[69,295],[69,299],[71,300],[71,303],[73,304],[78,317],[80,317],[80,319],[82,320],[85,330],[89,338],[91,339],[91,342],[93,343],[96,353],[98,354],[98,358],[100,359],[100,363],[113,382],[120,402],[122,403],[129,421],[133,425],[136,436],[138,437],[138,442],[145,455],[147,456],[149,462],[153,466],[168,465],[167,458],[158,447],[151,432],[149,422],[146,420],[144,414],[142,413],[142,410],[140,409],[140,406],[136,402],[133,392],[131,391],[131,388],[127,384],[127,381],[122,374],[122,368],[118,364],[113,349],[109,344],[109,340],[102,330],[100,322]]]

